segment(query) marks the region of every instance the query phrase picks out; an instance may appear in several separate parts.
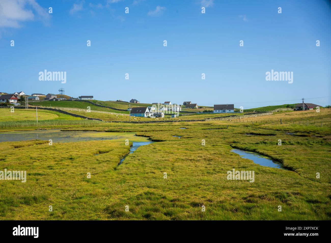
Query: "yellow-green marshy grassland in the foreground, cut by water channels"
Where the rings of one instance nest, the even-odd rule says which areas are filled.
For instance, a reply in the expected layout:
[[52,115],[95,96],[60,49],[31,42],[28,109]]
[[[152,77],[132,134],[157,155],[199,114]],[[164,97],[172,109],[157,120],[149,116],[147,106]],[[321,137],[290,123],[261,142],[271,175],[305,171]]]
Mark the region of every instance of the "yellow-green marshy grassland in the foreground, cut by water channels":
[[[2,142],[2,168],[26,170],[27,180],[0,180],[0,220],[330,220],[330,115],[331,109],[321,109],[248,122],[100,122],[64,128],[124,137],[52,146]],[[126,136],[157,142],[139,147],[118,166],[129,152]],[[288,170],[260,166],[232,148],[269,156]],[[227,180],[233,168],[255,171],[255,182]]]

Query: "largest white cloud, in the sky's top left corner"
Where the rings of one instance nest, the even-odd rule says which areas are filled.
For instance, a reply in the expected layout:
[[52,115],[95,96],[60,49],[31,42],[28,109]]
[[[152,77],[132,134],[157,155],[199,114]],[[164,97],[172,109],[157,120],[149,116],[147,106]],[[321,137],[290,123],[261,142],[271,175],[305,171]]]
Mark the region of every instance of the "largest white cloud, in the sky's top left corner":
[[0,0],[0,27],[22,27],[21,22],[50,20],[48,9],[42,8],[35,0]]

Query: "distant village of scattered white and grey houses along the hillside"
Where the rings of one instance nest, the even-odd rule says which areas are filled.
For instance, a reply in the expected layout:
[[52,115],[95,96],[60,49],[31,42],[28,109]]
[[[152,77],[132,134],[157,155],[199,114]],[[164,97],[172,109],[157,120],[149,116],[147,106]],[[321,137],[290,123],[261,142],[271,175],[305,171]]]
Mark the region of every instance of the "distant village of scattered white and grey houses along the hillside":
[[[60,91],[60,90],[59,90]],[[60,95],[61,96],[61,95]],[[19,100],[21,97],[24,97],[25,101],[64,101],[66,98],[59,97],[55,94],[38,94],[34,93],[31,95],[26,95],[23,91],[15,92],[13,94],[7,94],[0,92],[0,105],[1,103],[8,103],[11,105],[20,105]],[[68,96],[67,96],[68,97]],[[79,96],[78,98],[70,97],[71,101],[74,100],[94,100],[93,96]],[[117,100],[117,102],[127,102],[122,100]],[[140,101],[136,99],[131,99],[127,103],[139,104]],[[4,104],[5,105],[5,104]],[[295,105],[295,110],[312,110],[320,105],[312,103],[298,103]],[[191,101],[184,101],[182,105],[177,103],[171,103],[170,101],[165,101],[164,103],[155,102],[151,106],[142,106],[142,107],[130,107],[127,111],[130,112],[130,116],[135,117],[164,117],[165,114],[171,114],[171,117],[175,118],[179,115],[179,112],[182,111],[182,108],[188,109],[197,109],[199,108],[197,103],[192,103]],[[214,104],[213,111],[209,113],[235,113],[234,104]],[[187,112],[187,111],[186,111]]]

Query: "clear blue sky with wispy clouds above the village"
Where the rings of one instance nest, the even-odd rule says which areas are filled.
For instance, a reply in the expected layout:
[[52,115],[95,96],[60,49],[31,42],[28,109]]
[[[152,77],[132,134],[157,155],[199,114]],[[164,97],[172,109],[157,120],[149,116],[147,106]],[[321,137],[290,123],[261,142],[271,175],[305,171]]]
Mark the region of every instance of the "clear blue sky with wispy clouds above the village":
[[[322,0],[0,0],[0,92],[62,86],[97,100],[327,105],[330,23]],[[39,81],[44,69],[66,71],[67,82]],[[293,83],[266,81],[271,69],[293,72]]]

